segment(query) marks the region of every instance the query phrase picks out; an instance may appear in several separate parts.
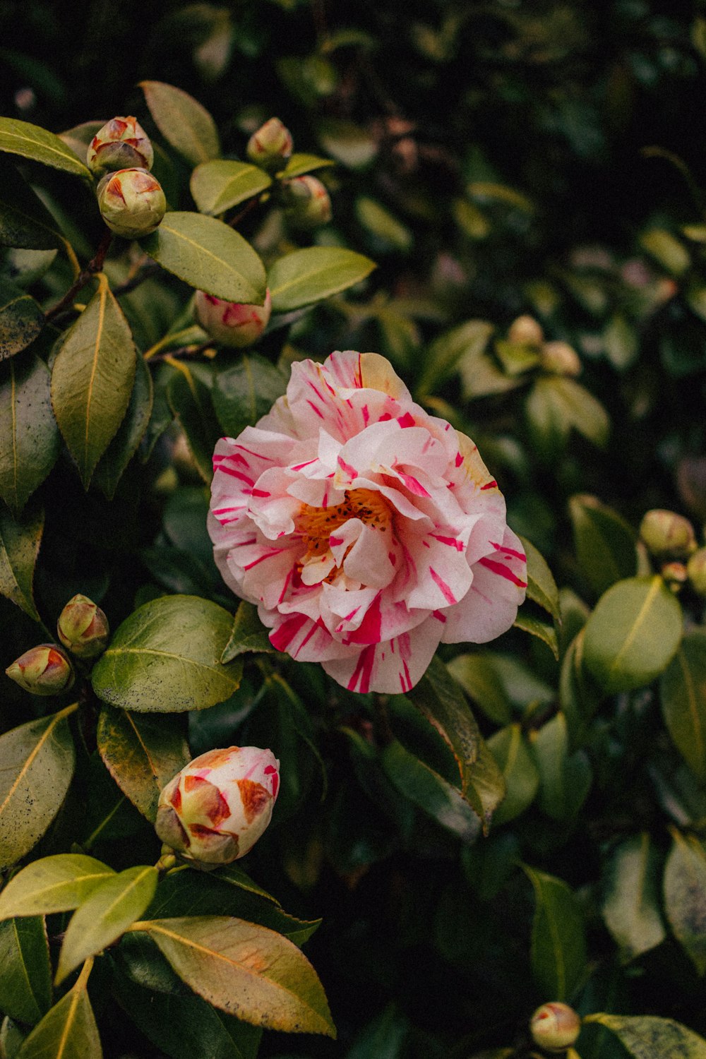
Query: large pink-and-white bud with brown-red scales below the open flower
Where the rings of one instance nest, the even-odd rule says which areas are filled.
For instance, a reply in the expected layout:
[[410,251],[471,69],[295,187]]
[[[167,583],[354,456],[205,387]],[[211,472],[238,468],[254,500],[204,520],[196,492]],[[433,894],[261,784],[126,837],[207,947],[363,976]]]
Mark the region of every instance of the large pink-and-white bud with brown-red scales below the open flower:
[[278,788],[279,761],[271,750],[210,750],[166,785],[155,829],[185,860],[230,864],[270,823]]

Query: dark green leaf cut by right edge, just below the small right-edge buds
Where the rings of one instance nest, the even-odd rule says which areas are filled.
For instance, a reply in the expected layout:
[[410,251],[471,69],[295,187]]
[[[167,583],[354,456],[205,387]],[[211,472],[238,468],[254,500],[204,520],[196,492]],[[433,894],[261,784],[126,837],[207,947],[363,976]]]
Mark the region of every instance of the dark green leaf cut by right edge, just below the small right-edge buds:
[[689,629],[659,681],[672,742],[694,775],[706,779],[706,633]]

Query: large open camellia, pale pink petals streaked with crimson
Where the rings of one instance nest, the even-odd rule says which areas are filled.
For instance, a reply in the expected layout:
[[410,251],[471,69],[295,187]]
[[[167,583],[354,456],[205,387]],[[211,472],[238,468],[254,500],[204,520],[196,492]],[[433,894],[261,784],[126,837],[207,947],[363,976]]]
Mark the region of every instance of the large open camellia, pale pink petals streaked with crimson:
[[227,584],[274,647],[354,692],[409,692],[440,642],[505,632],[526,559],[476,446],[375,353],[292,365],[285,397],[214,455]]

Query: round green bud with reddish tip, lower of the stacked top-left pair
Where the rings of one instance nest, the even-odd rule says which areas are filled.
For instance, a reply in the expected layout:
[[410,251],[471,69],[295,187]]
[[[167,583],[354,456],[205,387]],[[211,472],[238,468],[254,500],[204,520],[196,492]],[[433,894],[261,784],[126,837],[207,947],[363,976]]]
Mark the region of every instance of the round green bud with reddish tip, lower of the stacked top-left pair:
[[110,231],[126,239],[149,235],[166,212],[162,185],[147,169],[107,173],[95,194],[101,215]]

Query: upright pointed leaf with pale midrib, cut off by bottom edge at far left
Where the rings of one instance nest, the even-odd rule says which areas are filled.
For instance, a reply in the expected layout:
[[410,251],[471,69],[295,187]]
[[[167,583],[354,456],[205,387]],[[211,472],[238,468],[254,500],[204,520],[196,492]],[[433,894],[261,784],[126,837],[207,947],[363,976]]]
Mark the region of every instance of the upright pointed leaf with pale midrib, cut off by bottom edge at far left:
[[103,1059],[98,1027],[86,989],[86,976],[35,1026],[17,1059]]

